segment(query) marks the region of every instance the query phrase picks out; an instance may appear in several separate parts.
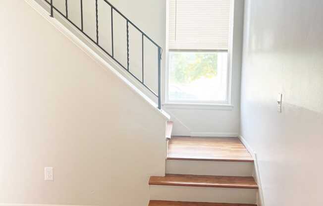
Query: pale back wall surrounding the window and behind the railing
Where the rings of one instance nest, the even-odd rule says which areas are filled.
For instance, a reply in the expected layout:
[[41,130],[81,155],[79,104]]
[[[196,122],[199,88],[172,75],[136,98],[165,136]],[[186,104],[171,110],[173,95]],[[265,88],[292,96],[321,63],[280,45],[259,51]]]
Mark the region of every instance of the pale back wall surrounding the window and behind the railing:
[[[44,2],[44,0],[37,0]],[[54,5],[65,14],[65,0],[54,0]],[[92,39],[96,40],[96,18],[95,18],[95,1],[83,1],[84,12],[84,31]],[[159,44],[163,51],[162,57],[162,102],[164,99],[165,75],[166,75],[166,1],[165,0],[109,0],[125,16],[134,22],[139,28],[147,33],[154,41]],[[99,7],[99,43],[110,52],[110,10],[109,6],[103,1],[98,0]],[[237,136],[240,125],[240,72],[242,57],[242,33],[243,33],[243,0],[235,0],[234,6],[234,27],[233,27],[233,52],[232,52],[232,85],[231,85],[231,104],[233,108],[228,107],[187,107],[163,105],[171,119],[174,121],[173,135],[201,135],[201,136]],[[49,8],[48,8],[49,9]],[[68,1],[69,18],[78,26],[80,23],[80,2],[79,0]],[[116,14],[114,12],[114,14]],[[59,19],[58,15],[56,17]],[[126,24],[123,18],[118,15],[113,16],[114,23],[114,52],[116,58],[126,65]],[[63,21],[61,21],[64,23]],[[73,31],[73,27],[67,28]],[[83,39],[78,32],[74,32],[80,39]],[[141,79],[141,38],[135,30],[130,27],[130,71]],[[88,44],[88,43],[87,43]],[[144,43],[145,57],[145,83],[157,93],[157,50],[149,41]],[[95,51],[100,54],[100,50]],[[113,60],[104,57],[109,63]],[[117,68],[118,65],[115,65]],[[124,69],[119,70],[121,73]],[[125,76],[128,76],[125,73]],[[131,80],[132,78],[129,78]],[[134,84],[137,81],[133,81]],[[145,94],[151,97],[155,102],[157,98],[152,96],[145,88],[137,85]]]

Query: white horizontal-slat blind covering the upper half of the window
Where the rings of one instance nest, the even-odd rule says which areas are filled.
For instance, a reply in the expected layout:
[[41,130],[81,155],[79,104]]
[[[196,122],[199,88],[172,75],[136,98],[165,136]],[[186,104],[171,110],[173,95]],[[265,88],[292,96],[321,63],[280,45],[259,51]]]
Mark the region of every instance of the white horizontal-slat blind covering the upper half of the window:
[[169,50],[228,50],[230,0],[170,0]]

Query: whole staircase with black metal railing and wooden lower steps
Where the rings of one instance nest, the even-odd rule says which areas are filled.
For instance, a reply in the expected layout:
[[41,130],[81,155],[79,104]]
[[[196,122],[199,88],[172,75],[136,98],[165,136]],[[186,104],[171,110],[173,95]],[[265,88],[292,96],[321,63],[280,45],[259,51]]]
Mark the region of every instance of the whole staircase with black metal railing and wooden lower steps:
[[[125,17],[107,0],[105,4],[111,15],[111,48],[101,45],[99,40],[100,21],[98,18],[98,0],[96,4],[96,38],[91,38],[83,29],[83,9],[80,0],[81,25],[75,24],[68,16],[68,1],[65,0],[65,11],[60,11],[53,4],[53,0],[44,0],[52,17],[60,15],[73,25],[82,35],[95,46],[105,52],[130,77],[139,82],[155,99],[156,107],[161,110],[161,58],[162,48],[134,23]],[[114,53],[113,14],[117,13],[126,22],[126,55],[127,62],[122,64]],[[142,74],[132,73],[129,58],[129,27],[136,29],[141,36]],[[153,91],[145,81],[144,41],[149,41],[156,49],[157,62],[157,91]],[[255,206],[257,203],[258,185],[252,177],[254,160],[238,138],[199,138],[199,137],[171,137],[173,123],[166,123],[166,174],[151,176],[149,179],[149,206]]]

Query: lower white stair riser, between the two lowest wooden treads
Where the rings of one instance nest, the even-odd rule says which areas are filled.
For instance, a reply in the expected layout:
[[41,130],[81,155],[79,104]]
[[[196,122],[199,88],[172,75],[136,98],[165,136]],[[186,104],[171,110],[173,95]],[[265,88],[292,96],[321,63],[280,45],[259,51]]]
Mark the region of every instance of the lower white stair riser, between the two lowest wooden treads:
[[256,204],[256,189],[150,185],[150,200]]

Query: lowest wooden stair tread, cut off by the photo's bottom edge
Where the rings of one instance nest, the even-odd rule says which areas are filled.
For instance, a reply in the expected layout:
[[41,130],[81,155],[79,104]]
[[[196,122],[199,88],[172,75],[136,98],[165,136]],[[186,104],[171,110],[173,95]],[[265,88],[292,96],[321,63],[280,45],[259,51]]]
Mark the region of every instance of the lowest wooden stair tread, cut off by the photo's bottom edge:
[[257,206],[252,204],[229,204],[229,203],[198,203],[198,202],[176,202],[176,201],[149,201],[149,206]]

